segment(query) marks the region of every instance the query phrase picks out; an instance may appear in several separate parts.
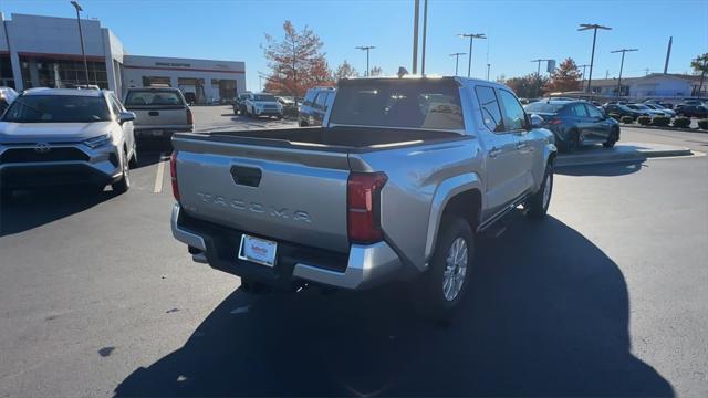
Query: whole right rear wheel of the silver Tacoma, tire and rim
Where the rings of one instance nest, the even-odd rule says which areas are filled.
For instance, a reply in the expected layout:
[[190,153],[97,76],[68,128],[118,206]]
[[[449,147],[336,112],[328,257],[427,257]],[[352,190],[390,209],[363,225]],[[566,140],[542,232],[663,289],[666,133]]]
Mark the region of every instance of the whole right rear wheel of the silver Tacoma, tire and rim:
[[449,318],[459,306],[472,271],[475,234],[461,217],[442,220],[430,268],[416,283],[414,300],[429,318]]

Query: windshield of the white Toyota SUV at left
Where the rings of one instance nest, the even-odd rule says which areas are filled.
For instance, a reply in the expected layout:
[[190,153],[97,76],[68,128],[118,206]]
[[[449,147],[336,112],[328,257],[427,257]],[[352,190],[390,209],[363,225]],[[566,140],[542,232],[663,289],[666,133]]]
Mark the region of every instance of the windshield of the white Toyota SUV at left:
[[102,96],[22,95],[2,117],[15,123],[86,123],[111,121]]

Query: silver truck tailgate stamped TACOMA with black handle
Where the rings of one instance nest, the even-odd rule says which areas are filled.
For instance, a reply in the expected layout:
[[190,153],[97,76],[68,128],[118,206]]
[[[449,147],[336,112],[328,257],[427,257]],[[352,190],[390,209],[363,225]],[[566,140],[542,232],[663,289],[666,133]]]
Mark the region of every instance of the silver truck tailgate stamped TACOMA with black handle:
[[190,216],[242,232],[346,252],[346,151],[179,135],[177,179]]

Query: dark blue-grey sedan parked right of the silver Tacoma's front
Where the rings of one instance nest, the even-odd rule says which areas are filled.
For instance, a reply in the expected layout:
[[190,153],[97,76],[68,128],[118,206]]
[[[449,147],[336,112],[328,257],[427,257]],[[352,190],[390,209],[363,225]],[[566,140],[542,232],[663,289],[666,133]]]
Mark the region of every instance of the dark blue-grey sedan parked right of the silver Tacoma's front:
[[529,104],[524,109],[541,116],[542,126],[553,133],[556,145],[566,151],[585,144],[612,148],[620,140],[617,121],[586,101],[549,100]]

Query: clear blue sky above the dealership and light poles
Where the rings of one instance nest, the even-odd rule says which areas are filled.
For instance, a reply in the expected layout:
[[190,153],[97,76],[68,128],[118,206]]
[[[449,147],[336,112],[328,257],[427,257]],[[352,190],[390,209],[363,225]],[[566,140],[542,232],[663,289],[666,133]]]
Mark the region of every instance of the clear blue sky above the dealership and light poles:
[[[282,35],[282,23],[309,25],[324,42],[332,69],[348,60],[365,69],[365,54],[354,48],[376,45],[372,65],[393,74],[410,69],[413,0],[382,1],[192,1],[81,0],[87,18],[97,18],[116,33],[131,54],[244,61],[249,90],[258,90],[258,71],[267,72],[261,44],[264,33]],[[423,3],[423,0],[420,1]],[[0,11],[73,17],[69,0],[0,0]],[[590,63],[592,32],[577,32],[579,23],[614,28],[598,32],[594,77],[620,72],[620,54],[628,53],[623,75],[641,76],[645,69],[662,72],[668,38],[674,36],[669,72],[689,71],[699,53],[708,52],[708,1],[444,1],[428,6],[426,72],[452,74],[448,54],[467,52],[461,32],[481,32],[475,41],[472,75],[507,77],[535,71],[533,59],[568,56]],[[423,24],[421,24],[423,25]],[[488,49],[489,45],[489,49]],[[489,55],[488,55],[489,52]],[[489,56],[489,57],[488,57]],[[460,59],[460,74],[467,59]]]

